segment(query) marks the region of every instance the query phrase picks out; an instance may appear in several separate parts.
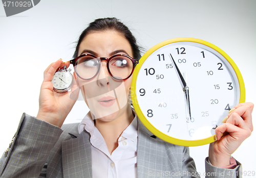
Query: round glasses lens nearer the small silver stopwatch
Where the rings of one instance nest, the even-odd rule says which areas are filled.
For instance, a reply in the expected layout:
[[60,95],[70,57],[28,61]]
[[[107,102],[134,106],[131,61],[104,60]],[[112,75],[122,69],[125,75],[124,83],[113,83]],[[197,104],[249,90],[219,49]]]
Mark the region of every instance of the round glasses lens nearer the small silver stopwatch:
[[82,79],[91,79],[99,69],[99,61],[92,56],[84,56],[76,61],[76,72]]

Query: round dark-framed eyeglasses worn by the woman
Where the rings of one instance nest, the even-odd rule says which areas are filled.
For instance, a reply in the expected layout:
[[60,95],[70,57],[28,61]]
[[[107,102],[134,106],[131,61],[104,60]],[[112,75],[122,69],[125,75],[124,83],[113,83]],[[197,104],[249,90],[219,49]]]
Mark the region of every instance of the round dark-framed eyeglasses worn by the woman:
[[110,58],[98,58],[91,54],[83,54],[69,62],[73,64],[79,78],[90,80],[99,73],[101,60],[107,61],[108,71],[116,80],[130,78],[135,66],[139,63],[139,60],[123,54],[114,55]]

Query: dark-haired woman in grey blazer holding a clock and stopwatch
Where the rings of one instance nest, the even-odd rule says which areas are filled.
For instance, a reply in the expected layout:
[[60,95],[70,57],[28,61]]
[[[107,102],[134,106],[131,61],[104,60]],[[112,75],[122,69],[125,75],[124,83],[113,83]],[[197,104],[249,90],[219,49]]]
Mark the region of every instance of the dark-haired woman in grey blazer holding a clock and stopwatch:
[[[55,71],[70,62],[58,60],[45,70],[37,117],[23,115],[1,158],[2,177],[200,177],[188,148],[152,136],[131,108],[132,69],[140,52],[124,24],[116,18],[90,23],[74,58],[71,93],[56,93],[51,83]],[[90,112],[80,124],[62,125],[78,89]],[[252,132],[252,109],[253,104],[239,104],[216,129],[207,177],[239,175],[240,163],[230,155]],[[221,138],[224,132],[229,134]]]

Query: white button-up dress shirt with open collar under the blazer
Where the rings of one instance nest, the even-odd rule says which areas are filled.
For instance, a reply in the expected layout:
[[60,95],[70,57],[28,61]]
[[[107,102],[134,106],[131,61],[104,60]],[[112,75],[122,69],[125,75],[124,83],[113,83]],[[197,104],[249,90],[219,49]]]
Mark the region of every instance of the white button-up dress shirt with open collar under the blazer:
[[90,133],[92,148],[93,178],[100,177],[137,177],[137,115],[132,123],[118,138],[118,147],[110,155],[105,140],[94,126],[93,119],[87,114],[78,125],[79,134],[86,130]]

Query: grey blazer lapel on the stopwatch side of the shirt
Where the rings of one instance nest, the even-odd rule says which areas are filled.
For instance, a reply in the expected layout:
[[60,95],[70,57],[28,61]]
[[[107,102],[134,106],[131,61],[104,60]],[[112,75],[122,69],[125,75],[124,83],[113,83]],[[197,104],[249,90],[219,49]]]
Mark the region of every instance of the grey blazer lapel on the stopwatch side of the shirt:
[[62,142],[63,177],[92,177],[90,134],[83,131],[77,138]]

